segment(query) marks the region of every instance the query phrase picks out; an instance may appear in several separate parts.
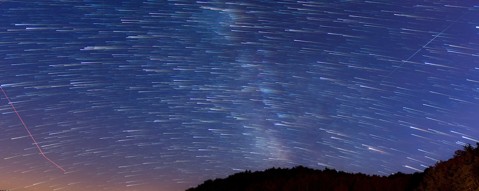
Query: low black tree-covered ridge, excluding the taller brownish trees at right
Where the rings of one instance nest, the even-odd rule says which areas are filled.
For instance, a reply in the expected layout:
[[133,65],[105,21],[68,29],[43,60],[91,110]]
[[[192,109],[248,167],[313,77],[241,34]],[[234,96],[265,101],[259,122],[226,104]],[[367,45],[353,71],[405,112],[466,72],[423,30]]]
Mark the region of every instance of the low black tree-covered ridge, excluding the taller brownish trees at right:
[[421,180],[418,173],[386,176],[347,173],[303,166],[292,169],[245,171],[226,179],[206,180],[187,191],[412,191]]

